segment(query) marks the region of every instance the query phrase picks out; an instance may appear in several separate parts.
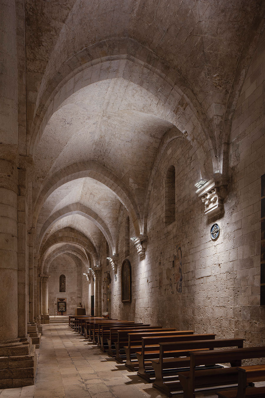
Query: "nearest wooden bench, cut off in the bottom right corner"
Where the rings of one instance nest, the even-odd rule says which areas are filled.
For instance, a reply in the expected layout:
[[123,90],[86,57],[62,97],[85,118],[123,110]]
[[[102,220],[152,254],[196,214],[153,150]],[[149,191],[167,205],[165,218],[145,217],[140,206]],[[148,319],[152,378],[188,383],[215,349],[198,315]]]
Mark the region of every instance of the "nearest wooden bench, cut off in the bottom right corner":
[[265,365],[237,367],[238,388],[217,392],[220,398],[258,398],[265,397],[265,387],[248,387],[253,382],[265,380]]

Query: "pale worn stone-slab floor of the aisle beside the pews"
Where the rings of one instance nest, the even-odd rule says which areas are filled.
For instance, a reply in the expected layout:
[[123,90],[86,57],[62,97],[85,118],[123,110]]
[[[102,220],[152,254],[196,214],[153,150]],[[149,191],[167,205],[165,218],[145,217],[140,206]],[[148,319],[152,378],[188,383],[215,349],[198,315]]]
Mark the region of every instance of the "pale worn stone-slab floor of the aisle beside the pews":
[[[165,397],[66,324],[43,325],[41,347],[37,351],[35,385],[0,390],[0,398]],[[199,397],[217,398],[217,395],[211,390],[197,392],[196,398]]]

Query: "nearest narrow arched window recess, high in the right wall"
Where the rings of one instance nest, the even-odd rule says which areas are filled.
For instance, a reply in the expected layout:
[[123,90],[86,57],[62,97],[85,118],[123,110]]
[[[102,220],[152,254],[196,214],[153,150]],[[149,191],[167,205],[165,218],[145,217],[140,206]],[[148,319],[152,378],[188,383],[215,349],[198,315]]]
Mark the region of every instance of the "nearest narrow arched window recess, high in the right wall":
[[165,223],[166,225],[175,221],[176,218],[175,200],[175,168],[170,166],[166,173],[165,181]]

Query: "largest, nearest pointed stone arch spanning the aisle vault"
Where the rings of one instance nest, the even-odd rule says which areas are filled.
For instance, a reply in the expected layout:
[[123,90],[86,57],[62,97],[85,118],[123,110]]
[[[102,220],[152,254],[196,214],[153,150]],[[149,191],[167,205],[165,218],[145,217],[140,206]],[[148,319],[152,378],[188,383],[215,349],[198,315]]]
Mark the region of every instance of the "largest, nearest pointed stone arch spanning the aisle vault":
[[[105,49],[105,57],[102,57],[102,47]],[[137,73],[132,73],[134,68]],[[148,84],[144,78],[140,78],[146,73],[151,76]],[[70,57],[53,78],[44,74],[43,82],[46,81],[49,85],[42,84],[39,91],[29,152],[34,154],[34,147],[47,121],[66,98],[89,84],[116,77],[134,82],[157,96],[166,106],[167,112],[170,109],[176,116],[176,127],[186,131],[192,142],[197,140],[198,147],[204,143],[214,164],[217,163],[213,129],[195,94],[176,69],[128,37],[93,44]]]

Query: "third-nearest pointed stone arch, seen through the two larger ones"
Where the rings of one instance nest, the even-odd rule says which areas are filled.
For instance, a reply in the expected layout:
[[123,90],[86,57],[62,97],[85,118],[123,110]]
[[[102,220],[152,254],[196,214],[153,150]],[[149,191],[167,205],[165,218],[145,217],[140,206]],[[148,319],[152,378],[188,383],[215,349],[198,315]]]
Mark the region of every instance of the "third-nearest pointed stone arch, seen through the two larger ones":
[[93,210],[89,209],[85,205],[81,203],[71,203],[68,206],[63,207],[62,209],[56,211],[46,220],[43,227],[41,228],[41,232],[39,233],[39,244],[41,244],[47,230],[58,220],[67,217],[69,215],[79,214],[91,221],[94,222],[95,225],[101,230],[106,241],[108,242],[108,246],[112,250],[112,253],[115,253],[115,246],[113,243],[113,238],[108,229],[108,226],[105,222],[97,215]]

